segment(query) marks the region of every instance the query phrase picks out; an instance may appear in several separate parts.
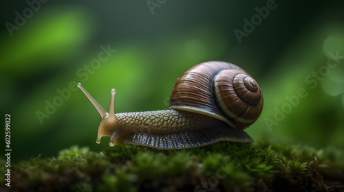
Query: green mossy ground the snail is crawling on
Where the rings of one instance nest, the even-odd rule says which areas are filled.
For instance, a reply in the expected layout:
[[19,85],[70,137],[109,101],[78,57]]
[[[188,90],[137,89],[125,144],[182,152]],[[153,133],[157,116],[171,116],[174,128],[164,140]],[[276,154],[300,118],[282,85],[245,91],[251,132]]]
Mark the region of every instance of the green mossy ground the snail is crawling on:
[[116,145],[98,153],[72,146],[57,157],[37,156],[18,163],[12,171],[11,187],[2,184],[2,189],[339,191],[344,189],[343,157],[342,152],[330,148],[279,143],[215,143],[169,151]]

